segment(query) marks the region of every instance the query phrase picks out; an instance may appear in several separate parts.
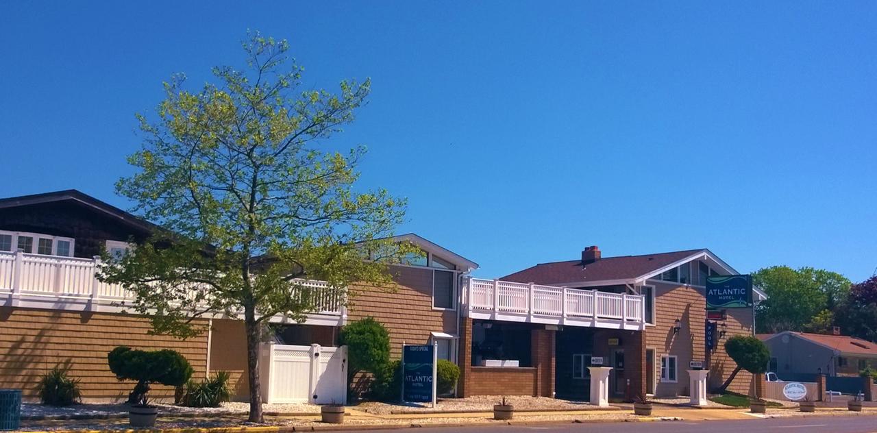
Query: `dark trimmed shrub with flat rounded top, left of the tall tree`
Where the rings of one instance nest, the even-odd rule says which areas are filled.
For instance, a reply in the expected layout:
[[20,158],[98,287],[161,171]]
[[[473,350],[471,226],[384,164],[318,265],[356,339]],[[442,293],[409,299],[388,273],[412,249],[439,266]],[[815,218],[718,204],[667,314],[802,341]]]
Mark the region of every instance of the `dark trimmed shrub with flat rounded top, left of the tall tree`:
[[146,394],[153,383],[181,387],[192,377],[193,369],[180,352],[168,349],[140,351],[118,346],[107,354],[110,371],[118,380],[137,380],[128,394],[128,403],[145,405]]

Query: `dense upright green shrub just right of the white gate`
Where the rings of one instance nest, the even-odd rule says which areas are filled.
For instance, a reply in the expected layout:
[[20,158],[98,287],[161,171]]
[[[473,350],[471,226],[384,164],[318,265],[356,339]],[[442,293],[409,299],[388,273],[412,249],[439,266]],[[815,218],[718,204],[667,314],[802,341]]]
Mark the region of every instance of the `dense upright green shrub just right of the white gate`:
[[389,332],[374,317],[347,323],[338,337],[339,344],[347,346],[347,383],[351,387],[355,387],[353,378],[358,373],[378,376],[388,368]]

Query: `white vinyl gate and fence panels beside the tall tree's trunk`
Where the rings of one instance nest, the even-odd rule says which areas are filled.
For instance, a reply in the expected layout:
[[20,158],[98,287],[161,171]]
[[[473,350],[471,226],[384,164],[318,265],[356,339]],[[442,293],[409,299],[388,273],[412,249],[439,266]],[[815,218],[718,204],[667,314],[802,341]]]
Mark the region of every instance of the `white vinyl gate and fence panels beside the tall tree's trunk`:
[[347,346],[261,344],[259,374],[266,403],[347,403]]

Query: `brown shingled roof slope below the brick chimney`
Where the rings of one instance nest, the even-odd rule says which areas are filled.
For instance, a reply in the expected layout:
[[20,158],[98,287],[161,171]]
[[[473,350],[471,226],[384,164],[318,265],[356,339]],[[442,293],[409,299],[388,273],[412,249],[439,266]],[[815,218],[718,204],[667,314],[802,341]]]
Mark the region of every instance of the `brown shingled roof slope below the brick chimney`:
[[565,284],[585,281],[632,280],[705,249],[660,252],[641,256],[604,257],[582,266],[581,259],[540,263],[523,271],[510,273],[500,280]]

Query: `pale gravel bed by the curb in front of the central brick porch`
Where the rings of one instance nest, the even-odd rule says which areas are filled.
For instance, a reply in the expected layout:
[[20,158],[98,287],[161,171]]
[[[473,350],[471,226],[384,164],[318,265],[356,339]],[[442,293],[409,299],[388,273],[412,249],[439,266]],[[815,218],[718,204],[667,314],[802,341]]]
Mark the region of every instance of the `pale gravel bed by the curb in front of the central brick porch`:
[[[506,401],[515,406],[515,411],[526,410],[591,410],[594,406],[588,404],[587,401],[567,401],[557,400],[548,397],[528,397],[528,396],[510,396],[505,398]],[[479,395],[475,397],[467,397],[463,399],[439,399],[437,408],[430,408],[429,404],[416,405],[411,404],[402,406],[398,404],[381,403],[378,401],[364,401],[353,408],[367,412],[369,414],[388,415],[410,414],[410,413],[428,413],[437,410],[442,412],[489,412],[493,410],[495,404],[499,404],[503,400],[502,395]]]

